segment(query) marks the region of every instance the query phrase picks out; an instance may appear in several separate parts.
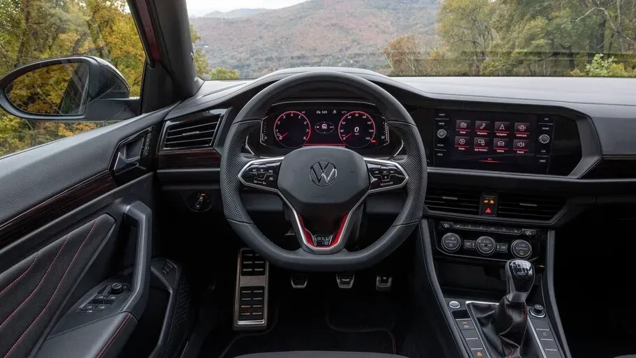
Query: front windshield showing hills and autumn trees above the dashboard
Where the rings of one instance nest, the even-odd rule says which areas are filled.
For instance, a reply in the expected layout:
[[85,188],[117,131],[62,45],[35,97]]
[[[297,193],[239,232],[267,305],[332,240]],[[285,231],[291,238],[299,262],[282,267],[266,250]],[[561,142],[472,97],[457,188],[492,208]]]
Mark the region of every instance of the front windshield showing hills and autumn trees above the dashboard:
[[187,0],[197,73],[635,77],[636,0]]

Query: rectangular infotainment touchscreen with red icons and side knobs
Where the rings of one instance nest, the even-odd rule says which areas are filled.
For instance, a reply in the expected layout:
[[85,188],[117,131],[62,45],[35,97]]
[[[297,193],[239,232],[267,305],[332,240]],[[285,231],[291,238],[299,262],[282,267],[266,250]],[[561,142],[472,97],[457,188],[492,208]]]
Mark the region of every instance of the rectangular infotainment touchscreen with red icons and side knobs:
[[545,174],[553,133],[547,115],[436,110],[434,165]]

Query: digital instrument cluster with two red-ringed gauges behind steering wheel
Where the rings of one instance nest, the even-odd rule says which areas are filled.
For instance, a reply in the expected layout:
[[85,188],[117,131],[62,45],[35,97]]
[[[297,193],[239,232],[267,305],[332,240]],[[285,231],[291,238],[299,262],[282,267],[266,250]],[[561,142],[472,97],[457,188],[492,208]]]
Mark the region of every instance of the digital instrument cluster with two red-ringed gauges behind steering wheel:
[[390,142],[384,117],[367,103],[280,103],[271,107],[260,132],[261,144],[280,149],[377,149]]

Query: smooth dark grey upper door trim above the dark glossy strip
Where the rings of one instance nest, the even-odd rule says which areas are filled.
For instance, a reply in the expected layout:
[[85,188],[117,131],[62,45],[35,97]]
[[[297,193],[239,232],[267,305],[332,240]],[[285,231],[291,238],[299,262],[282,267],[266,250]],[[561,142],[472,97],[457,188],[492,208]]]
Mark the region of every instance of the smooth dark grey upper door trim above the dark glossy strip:
[[165,119],[172,107],[1,158],[0,225],[109,172],[119,143]]

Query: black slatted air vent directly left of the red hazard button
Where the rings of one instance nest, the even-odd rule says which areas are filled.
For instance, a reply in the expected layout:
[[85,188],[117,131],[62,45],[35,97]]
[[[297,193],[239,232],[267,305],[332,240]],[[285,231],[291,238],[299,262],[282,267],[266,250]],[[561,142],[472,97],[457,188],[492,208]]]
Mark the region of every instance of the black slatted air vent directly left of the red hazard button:
[[425,204],[432,211],[478,215],[480,195],[480,191],[429,186]]

